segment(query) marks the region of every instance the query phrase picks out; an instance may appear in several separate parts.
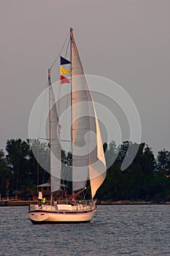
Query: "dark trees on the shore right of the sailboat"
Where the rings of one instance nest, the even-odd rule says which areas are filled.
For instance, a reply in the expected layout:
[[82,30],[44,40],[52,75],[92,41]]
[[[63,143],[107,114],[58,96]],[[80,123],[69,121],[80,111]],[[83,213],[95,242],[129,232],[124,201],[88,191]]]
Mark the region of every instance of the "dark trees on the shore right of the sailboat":
[[[130,158],[138,148],[134,161],[126,170],[121,170],[125,157]],[[152,149],[145,143],[137,144],[125,141],[119,147],[110,143],[105,153],[107,178],[98,189],[98,200],[152,200],[155,202],[170,200],[170,152],[158,152],[155,160]],[[113,161],[115,160],[115,162]],[[110,163],[112,165],[110,165]]]

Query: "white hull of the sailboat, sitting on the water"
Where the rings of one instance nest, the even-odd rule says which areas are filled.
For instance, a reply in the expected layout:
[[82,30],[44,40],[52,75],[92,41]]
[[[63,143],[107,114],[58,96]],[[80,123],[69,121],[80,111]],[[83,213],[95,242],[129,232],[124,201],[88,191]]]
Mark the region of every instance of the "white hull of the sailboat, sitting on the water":
[[[77,210],[77,206],[71,206],[73,209],[64,209],[64,205],[59,205],[61,210],[56,210],[55,206],[47,206],[37,209],[31,209],[28,211],[28,218],[34,224],[43,224],[43,223],[69,223],[69,222],[90,222],[93,217],[93,214],[96,211],[96,206],[93,208],[86,208]],[[68,206],[68,205],[67,205]],[[44,208],[44,209],[43,209]],[[47,208],[47,209],[45,209]],[[63,208],[63,210],[62,210]]]

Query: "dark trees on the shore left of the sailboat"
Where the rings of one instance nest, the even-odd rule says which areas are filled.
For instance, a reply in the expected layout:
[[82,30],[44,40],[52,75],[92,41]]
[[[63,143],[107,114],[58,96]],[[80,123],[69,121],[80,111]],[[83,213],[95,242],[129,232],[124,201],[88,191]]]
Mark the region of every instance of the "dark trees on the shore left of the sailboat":
[[[46,182],[49,174],[45,170],[49,168],[49,148],[46,143],[39,140],[7,140],[6,158],[0,155],[0,193],[2,197],[7,197],[15,189],[21,192],[21,197],[25,197],[26,192],[33,190],[36,184]],[[34,152],[34,153],[33,153]],[[37,154],[36,154],[37,153]],[[37,163],[37,155],[41,158],[44,168]],[[39,174],[37,175],[37,169]],[[38,181],[37,181],[38,179]]]

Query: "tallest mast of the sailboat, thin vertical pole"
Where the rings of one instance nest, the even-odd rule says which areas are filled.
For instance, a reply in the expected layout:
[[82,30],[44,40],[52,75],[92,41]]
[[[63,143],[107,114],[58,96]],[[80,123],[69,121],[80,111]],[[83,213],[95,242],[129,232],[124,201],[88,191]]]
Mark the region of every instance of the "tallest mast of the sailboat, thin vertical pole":
[[[70,61],[71,61],[71,124],[73,120],[73,115],[72,115],[72,105],[73,105],[73,93],[72,93],[72,39],[73,39],[73,29],[72,27],[70,28]],[[73,138],[73,129],[72,129],[72,134],[71,134],[71,147],[72,146],[72,138]],[[73,150],[72,150],[73,153]],[[72,154],[72,166],[73,166],[73,154]],[[73,176],[72,176],[73,177]],[[73,189],[72,189],[73,191]]]

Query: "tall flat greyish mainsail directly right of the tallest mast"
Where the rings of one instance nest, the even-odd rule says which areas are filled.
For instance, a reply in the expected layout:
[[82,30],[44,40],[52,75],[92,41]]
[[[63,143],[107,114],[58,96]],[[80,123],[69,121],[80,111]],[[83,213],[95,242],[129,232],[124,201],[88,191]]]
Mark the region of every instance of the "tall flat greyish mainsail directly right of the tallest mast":
[[[72,179],[73,190],[85,187],[88,178],[88,151],[77,152],[85,146],[85,134],[90,130],[88,116],[88,85],[72,37]],[[83,108],[81,108],[83,102]],[[87,112],[88,114],[88,112]],[[88,140],[88,138],[86,138]],[[86,140],[86,143],[88,141]]]

